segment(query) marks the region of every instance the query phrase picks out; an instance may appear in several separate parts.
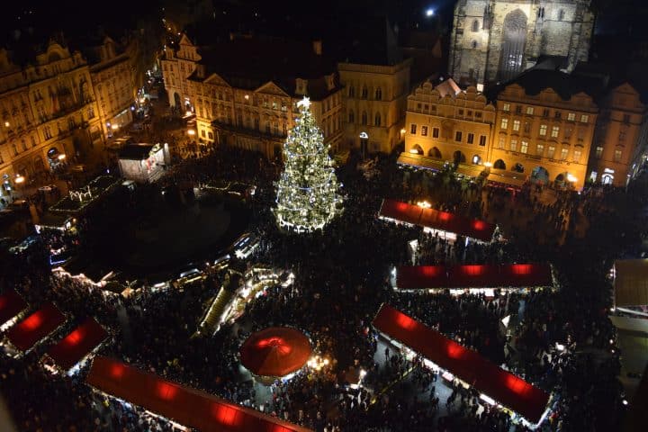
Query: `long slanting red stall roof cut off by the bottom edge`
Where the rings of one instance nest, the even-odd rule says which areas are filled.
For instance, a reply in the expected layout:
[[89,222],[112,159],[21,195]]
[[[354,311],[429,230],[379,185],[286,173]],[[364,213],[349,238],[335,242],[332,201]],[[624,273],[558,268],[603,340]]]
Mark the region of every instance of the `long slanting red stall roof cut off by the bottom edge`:
[[201,432],[308,432],[287,421],[224,401],[104,356],[94,357],[86,383]]

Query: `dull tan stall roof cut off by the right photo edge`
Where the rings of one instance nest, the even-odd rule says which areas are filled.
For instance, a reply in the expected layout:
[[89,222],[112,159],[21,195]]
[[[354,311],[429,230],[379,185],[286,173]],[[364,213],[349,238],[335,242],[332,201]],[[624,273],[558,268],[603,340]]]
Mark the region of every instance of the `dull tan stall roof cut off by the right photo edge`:
[[648,259],[619,259],[614,275],[615,306],[648,305]]

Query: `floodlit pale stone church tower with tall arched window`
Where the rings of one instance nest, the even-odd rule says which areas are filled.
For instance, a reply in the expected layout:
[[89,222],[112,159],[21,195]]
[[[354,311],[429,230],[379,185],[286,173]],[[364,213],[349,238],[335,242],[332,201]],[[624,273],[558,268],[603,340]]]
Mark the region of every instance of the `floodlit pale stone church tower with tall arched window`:
[[448,73],[463,85],[507,81],[540,56],[571,72],[588,59],[590,0],[458,0]]

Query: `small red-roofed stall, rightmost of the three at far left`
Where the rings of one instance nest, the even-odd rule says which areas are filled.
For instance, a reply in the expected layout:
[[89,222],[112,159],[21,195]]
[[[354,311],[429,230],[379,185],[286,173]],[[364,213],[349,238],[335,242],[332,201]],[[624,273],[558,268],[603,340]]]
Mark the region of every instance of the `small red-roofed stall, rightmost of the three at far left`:
[[74,329],[58,344],[49,348],[47,352],[54,362],[64,370],[72,368],[85,356],[98,347],[108,333],[92,318],[88,318]]

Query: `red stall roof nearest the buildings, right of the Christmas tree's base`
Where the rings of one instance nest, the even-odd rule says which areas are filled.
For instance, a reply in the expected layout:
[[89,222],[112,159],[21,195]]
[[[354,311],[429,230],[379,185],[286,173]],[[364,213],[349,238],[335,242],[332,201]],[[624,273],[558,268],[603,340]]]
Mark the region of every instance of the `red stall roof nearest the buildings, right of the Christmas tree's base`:
[[485,242],[491,241],[495,233],[495,225],[492,223],[464,218],[447,211],[424,209],[419,205],[396,200],[383,200],[380,215],[383,218],[399,220],[412,225],[421,225],[440,231],[454,232],[460,236],[476,238]]

